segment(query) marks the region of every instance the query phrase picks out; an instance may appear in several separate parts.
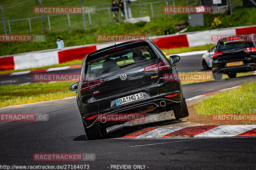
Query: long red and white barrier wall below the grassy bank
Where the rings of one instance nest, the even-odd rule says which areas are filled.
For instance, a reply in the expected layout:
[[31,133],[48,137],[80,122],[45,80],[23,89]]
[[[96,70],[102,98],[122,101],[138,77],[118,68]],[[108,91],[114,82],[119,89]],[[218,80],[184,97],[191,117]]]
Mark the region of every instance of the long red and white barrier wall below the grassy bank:
[[[212,35],[242,35],[256,33],[256,25],[188,32],[179,35],[157,36],[152,41],[161,49],[193,47],[212,44]],[[120,42],[116,42],[118,44]],[[83,59],[85,55],[114,45],[114,42],[65,47],[62,50],[43,50],[38,52],[15,54],[0,57],[0,70],[26,69],[59,64],[71,60]]]

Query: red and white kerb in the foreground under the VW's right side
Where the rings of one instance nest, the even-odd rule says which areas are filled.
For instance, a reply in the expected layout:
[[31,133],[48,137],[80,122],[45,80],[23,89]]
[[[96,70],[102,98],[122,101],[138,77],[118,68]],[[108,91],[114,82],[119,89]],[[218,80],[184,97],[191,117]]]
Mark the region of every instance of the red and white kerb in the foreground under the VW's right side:
[[148,127],[122,138],[256,136],[256,125],[209,125],[192,127]]

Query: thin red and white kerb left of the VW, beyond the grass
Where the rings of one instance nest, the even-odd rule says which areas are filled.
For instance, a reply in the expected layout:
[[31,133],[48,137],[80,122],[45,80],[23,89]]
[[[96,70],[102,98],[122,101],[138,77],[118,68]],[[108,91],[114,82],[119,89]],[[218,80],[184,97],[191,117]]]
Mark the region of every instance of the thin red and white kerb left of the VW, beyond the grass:
[[71,68],[81,68],[81,67],[82,67],[82,65],[53,67],[53,68],[45,68],[45,69],[40,69],[40,70],[28,70],[28,71],[20,71],[20,72],[13,72],[13,73],[7,73],[7,74],[0,74],[0,76],[14,76],[14,75],[29,74],[29,73],[59,71],[59,70],[67,70],[67,69],[71,69]]

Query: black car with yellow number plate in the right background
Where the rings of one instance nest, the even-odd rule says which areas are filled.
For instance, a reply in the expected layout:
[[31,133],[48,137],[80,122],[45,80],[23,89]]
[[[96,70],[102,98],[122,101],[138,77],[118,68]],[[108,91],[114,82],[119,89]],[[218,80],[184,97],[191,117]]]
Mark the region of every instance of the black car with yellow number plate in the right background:
[[212,74],[215,80],[222,79],[222,74],[235,78],[236,73],[256,70],[256,43],[252,41],[253,36],[255,37],[237,35],[218,42],[212,56]]

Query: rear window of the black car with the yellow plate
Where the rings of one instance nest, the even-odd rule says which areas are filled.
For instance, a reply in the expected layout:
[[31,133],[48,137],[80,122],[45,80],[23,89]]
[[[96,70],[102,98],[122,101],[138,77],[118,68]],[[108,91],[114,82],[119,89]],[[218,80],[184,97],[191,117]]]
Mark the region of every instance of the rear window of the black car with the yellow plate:
[[250,42],[219,42],[216,50],[232,50],[232,49],[245,49],[247,47],[251,47],[252,43]]

